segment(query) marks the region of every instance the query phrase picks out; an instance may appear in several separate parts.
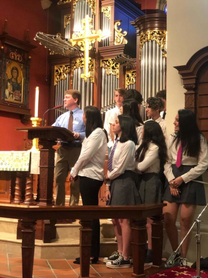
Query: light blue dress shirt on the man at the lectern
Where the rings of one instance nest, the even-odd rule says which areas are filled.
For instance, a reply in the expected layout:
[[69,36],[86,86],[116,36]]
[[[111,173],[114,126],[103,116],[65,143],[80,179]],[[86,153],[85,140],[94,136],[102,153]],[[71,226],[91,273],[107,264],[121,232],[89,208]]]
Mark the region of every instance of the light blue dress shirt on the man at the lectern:
[[[59,126],[59,127],[65,127],[68,129],[68,123],[69,123],[69,116],[70,116],[70,110],[63,113],[61,116],[57,118],[54,124],[52,126]],[[85,137],[85,126],[82,119],[84,111],[81,110],[79,107],[72,110],[73,114],[73,132],[80,133],[80,139],[83,140]],[[73,141],[75,143],[80,143],[79,140]]]

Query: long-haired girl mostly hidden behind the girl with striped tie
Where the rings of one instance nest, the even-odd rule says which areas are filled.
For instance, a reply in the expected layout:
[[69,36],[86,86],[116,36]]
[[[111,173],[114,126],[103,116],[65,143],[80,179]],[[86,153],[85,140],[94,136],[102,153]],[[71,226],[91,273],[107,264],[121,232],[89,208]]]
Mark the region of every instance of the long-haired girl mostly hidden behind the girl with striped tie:
[[144,128],[144,123],[139,113],[137,101],[135,99],[125,99],[123,101],[123,105],[120,107],[120,113],[125,116],[132,117],[135,122],[138,137],[138,145],[136,146],[137,149],[139,145],[141,145],[141,131]]

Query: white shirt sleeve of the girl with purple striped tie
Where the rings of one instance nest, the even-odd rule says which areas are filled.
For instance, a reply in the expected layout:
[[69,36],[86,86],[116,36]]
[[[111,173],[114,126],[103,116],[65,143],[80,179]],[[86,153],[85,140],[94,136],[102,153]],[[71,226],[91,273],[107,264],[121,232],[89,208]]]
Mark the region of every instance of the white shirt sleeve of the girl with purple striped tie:
[[135,156],[135,144],[133,141],[129,140],[126,141],[125,144],[121,150],[121,154],[119,157],[119,161],[115,168],[109,172],[108,171],[108,178],[109,179],[115,179],[121,174],[123,174],[129,165],[129,162],[133,160]]

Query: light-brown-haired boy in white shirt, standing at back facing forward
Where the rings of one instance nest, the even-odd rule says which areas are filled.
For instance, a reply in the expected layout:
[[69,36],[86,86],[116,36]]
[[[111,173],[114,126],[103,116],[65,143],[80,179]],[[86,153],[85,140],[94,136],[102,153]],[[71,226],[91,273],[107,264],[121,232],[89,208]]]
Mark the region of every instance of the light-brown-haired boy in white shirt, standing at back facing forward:
[[126,90],[123,88],[117,88],[114,91],[114,100],[116,106],[105,113],[105,121],[104,121],[104,128],[108,133],[108,157],[111,152],[111,148],[114,144],[115,134],[112,132],[112,124],[117,119],[120,111],[119,108],[122,106],[124,95]]

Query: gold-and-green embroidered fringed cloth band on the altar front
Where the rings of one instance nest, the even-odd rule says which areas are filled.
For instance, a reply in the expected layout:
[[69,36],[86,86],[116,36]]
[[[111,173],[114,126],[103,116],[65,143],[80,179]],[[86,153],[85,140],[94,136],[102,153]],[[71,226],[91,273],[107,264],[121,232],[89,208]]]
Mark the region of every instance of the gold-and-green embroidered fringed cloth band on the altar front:
[[30,152],[0,151],[0,171],[29,171]]

